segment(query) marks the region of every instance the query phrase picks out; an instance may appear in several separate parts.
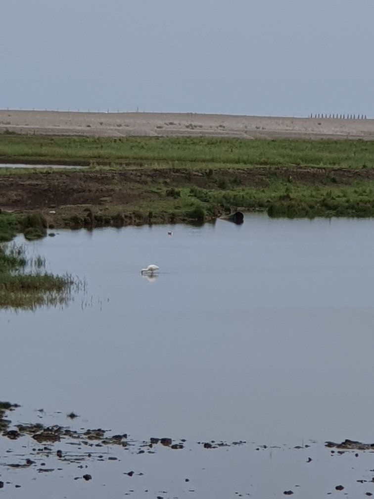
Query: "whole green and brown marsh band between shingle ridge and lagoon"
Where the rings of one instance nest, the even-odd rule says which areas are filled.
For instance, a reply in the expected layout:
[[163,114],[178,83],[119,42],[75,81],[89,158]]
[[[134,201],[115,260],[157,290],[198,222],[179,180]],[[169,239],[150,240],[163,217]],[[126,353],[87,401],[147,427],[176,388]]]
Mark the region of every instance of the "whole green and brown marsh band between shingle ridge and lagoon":
[[[0,169],[2,207],[31,213],[22,219],[29,239],[46,225],[202,223],[236,209],[374,216],[370,141],[1,135],[0,161],[46,165],[31,173]],[[88,168],[58,171],[48,163]],[[40,212],[44,219],[33,218]]]

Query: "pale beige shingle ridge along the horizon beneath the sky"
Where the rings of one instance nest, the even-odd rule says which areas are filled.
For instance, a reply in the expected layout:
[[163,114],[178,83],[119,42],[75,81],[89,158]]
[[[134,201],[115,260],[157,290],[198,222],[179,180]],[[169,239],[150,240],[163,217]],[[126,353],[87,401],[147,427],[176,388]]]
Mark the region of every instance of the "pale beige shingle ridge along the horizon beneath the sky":
[[198,113],[0,110],[0,133],[96,137],[211,136],[374,139],[374,119],[292,118]]

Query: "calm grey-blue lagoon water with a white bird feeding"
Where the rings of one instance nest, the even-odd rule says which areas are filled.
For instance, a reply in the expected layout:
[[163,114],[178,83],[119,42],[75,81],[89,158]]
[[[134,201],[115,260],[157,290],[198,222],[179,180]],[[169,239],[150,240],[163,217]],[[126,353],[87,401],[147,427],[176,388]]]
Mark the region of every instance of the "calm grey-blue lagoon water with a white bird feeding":
[[[66,473],[31,483],[31,470],[20,470],[11,474],[24,485],[7,494],[30,497],[33,487],[49,498],[58,485],[55,497],[143,497],[148,487],[149,497],[292,489],[307,498],[335,494],[342,480],[345,492],[367,492],[356,480],[373,468],[371,455],[338,461],[323,443],[374,440],[373,220],[248,215],[242,226],[59,231],[27,250],[87,289],[63,309],[0,312],[1,399],[22,405],[14,417],[68,424],[74,411],[77,428],[185,438],[189,447],[127,456],[126,468],[144,473],[134,493],[116,461],[90,465],[101,488]],[[153,281],[140,275],[149,263],[161,269]],[[247,444],[196,444],[209,440]],[[188,474],[195,483],[186,488]]]

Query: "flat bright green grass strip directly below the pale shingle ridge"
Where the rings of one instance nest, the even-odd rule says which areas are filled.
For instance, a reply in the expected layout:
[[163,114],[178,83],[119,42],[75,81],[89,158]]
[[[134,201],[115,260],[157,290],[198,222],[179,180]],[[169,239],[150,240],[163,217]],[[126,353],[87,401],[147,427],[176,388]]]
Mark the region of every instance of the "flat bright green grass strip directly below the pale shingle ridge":
[[0,161],[159,168],[306,166],[374,167],[374,142],[363,140],[205,137],[50,137],[0,135]]

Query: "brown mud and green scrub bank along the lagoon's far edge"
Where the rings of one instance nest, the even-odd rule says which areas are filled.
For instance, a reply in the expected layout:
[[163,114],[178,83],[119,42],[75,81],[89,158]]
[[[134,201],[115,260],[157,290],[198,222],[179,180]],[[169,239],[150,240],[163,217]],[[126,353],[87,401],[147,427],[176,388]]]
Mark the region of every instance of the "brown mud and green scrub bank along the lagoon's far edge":
[[373,182],[368,168],[12,173],[0,176],[0,209],[41,213],[50,228],[204,222],[240,208],[273,216],[372,216]]

